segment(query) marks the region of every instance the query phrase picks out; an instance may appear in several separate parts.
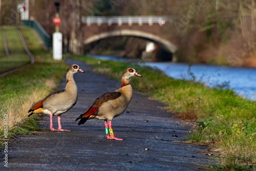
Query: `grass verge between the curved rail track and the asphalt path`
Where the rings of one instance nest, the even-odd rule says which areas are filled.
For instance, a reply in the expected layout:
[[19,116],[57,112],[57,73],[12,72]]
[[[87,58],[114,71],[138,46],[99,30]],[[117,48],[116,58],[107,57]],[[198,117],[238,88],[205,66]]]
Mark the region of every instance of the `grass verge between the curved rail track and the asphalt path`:
[[28,110],[33,102],[52,92],[67,71],[65,62],[53,60],[50,53],[42,50],[33,30],[21,28],[21,31],[28,49],[35,57],[35,64],[0,77],[1,140],[17,133],[33,134],[38,129],[38,116],[27,117]]

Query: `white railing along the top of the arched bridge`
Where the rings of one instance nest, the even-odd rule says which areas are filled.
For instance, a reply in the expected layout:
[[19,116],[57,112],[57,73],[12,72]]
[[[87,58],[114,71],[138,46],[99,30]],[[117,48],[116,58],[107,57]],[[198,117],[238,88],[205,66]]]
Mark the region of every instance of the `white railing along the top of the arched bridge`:
[[159,24],[163,25],[167,22],[168,18],[165,16],[82,16],[81,23],[91,25],[91,24]]

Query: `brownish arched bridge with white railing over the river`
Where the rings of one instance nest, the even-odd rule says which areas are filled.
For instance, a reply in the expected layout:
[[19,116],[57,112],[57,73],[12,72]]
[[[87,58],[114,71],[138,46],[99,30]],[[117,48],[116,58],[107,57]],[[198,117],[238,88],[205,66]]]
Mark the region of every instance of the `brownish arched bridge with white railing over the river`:
[[153,41],[173,54],[177,46],[166,38],[163,28],[167,23],[172,20],[165,16],[82,16],[83,45],[108,37],[135,36]]

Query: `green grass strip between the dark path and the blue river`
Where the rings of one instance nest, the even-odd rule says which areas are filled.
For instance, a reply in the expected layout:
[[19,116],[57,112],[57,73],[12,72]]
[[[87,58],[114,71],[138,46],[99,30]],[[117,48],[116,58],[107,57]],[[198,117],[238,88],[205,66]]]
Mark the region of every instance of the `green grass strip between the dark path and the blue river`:
[[151,67],[88,57],[75,58],[117,80],[126,68],[134,68],[143,75],[142,79],[131,81],[134,89],[166,103],[167,109],[177,117],[188,122],[196,119],[199,125],[187,138],[190,142],[206,143],[212,147],[220,159],[216,169],[256,168],[255,101],[243,99],[232,90],[217,90],[199,82],[169,78]]

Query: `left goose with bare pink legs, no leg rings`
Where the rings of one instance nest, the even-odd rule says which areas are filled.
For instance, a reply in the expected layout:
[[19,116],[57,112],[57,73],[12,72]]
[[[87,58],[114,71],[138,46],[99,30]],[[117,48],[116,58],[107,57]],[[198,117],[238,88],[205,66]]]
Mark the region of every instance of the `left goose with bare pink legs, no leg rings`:
[[[39,113],[49,114],[50,129],[52,131],[69,131],[61,129],[60,115],[68,112],[77,102],[77,87],[73,78],[73,74],[77,72],[84,73],[78,65],[70,66],[66,74],[66,88],[57,90],[44,99],[34,102],[29,110],[29,112],[32,112],[29,116]],[[58,116],[58,130],[53,129],[53,116]]]

